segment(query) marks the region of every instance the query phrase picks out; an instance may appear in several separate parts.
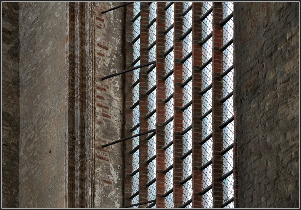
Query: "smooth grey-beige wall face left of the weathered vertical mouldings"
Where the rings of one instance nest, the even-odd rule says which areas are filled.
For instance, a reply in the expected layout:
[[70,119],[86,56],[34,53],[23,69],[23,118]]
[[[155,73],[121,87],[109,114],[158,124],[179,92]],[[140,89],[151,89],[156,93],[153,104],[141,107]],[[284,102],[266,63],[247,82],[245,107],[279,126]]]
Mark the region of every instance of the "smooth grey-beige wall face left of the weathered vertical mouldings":
[[19,207],[64,207],[63,2],[20,3]]

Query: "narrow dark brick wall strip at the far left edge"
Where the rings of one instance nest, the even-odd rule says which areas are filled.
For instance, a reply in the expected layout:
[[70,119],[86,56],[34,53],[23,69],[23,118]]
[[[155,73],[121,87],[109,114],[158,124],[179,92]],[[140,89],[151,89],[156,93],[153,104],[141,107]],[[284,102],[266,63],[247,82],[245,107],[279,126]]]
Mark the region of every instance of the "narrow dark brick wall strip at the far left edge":
[[19,3],[2,2],[2,208],[18,208]]

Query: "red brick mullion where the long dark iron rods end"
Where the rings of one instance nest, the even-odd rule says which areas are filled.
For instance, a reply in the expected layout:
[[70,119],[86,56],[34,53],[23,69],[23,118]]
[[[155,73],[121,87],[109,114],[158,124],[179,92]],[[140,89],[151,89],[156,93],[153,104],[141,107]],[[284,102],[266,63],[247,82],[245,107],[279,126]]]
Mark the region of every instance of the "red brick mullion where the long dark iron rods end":
[[165,146],[165,80],[162,77],[165,75],[165,2],[157,2],[157,49],[156,49],[156,76],[157,76],[157,122],[156,122],[156,208],[165,207],[165,199],[162,195],[165,193],[165,151],[162,149]]

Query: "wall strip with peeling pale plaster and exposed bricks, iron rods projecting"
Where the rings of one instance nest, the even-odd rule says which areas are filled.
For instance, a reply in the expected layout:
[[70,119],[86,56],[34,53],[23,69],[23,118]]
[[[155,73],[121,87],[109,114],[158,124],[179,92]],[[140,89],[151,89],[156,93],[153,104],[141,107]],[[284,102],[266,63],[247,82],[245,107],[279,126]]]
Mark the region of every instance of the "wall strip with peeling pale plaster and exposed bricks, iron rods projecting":
[[[123,205],[123,143],[101,145],[123,138],[124,75],[102,77],[124,70],[124,9],[102,11],[120,2],[96,2],[95,16],[95,208]],[[131,141],[131,140],[127,140]]]

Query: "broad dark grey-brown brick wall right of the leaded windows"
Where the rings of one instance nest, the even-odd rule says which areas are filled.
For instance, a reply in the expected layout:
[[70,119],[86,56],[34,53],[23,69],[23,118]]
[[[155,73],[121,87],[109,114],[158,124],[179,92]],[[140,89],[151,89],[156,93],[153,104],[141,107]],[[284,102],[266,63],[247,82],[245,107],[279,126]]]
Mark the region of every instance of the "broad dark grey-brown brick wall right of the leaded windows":
[[235,3],[239,202],[299,207],[299,3]]

